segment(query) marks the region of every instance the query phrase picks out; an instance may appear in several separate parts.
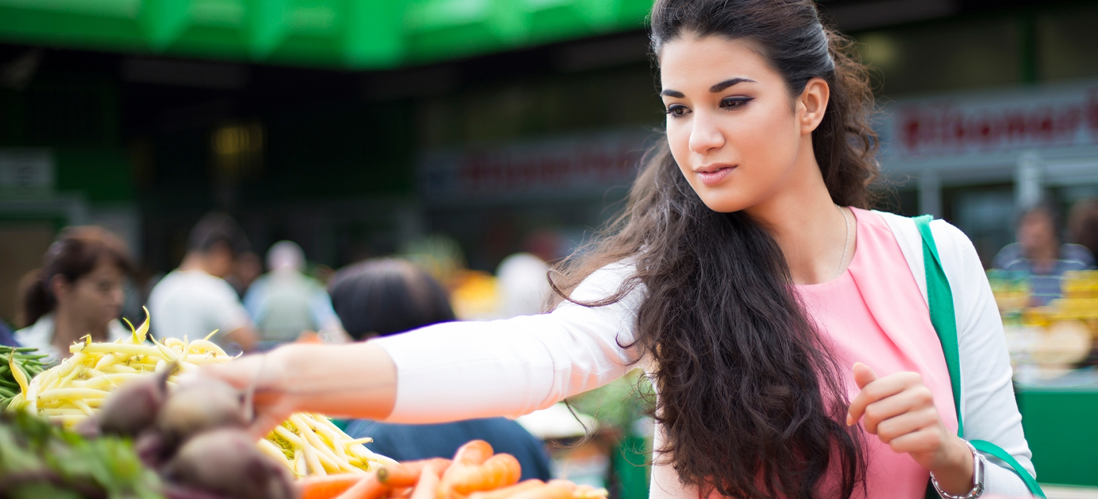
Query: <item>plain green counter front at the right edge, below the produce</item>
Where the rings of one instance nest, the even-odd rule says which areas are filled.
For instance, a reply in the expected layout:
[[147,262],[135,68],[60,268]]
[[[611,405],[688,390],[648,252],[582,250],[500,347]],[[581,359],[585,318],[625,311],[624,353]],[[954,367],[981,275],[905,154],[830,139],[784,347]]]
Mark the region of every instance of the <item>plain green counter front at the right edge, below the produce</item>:
[[1015,385],[1042,484],[1098,486],[1098,376],[1078,374],[1058,384]]

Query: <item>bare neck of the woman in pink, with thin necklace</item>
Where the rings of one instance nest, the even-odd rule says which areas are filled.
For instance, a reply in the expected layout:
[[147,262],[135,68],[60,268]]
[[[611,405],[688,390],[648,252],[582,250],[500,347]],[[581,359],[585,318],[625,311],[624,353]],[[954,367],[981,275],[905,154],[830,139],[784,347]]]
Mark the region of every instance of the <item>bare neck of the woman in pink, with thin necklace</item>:
[[746,212],[777,241],[795,284],[831,281],[853,259],[853,214],[836,207],[814,157],[798,160],[777,192]]

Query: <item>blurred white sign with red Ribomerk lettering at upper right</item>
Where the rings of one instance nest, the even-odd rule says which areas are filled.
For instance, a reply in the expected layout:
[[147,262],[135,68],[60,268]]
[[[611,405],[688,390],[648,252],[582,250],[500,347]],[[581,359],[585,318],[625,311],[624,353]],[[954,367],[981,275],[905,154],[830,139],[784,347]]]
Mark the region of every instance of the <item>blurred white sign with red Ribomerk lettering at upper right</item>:
[[882,139],[899,158],[1098,145],[1098,82],[897,101]]

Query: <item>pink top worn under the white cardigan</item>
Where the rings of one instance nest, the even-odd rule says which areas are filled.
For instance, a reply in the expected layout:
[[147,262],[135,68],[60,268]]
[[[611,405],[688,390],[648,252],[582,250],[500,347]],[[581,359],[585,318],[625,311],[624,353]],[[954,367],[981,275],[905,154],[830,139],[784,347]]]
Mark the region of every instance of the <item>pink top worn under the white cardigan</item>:
[[[945,428],[956,431],[949,370],[927,303],[892,230],[879,215],[852,208],[858,219],[853,261],[841,275],[821,284],[798,285],[808,315],[829,339],[839,361],[869,365],[877,376],[914,371],[934,394]],[[848,393],[858,385],[847,371]],[[870,498],[921,499],[930,472],[908,454],[892,451],[865,433]],[[861,497],[862,491],[854,497]]]

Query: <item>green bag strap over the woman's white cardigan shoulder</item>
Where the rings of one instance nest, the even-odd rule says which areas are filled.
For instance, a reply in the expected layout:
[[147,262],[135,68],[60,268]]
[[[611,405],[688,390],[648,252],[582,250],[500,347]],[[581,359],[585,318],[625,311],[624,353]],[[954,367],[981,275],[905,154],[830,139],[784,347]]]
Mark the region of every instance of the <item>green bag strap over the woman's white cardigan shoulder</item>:
[[[957,436],[964,438],[964,424],[961,419],[961,348],[957,343],[956,313],[953,309],[953,290],[950,281],[945,277],[942,269],[942,260],[938,256],[938,246],[934,243],[934,236],[930,231],[931,215],[916,217],[915,225],[922,236],[922,264],[927,274],[927,304],[930,308],[930,324],[938,332],[938,339],[942,342],[942,354],[945,356],[945,366],[950,372],[950,384],[953,388],[953,407],[957,412]],[[986,440],[972,440],[968,443],[977,451],[990,454],[1002,460],[1013,468],[1015,473],[1026,483],[1030,492],[1038,497],[1045,497],[1041,486],[1015,460],[1010,453],[1002,447]],[[927,497],[934,497],[933,487],[927,490]]]

